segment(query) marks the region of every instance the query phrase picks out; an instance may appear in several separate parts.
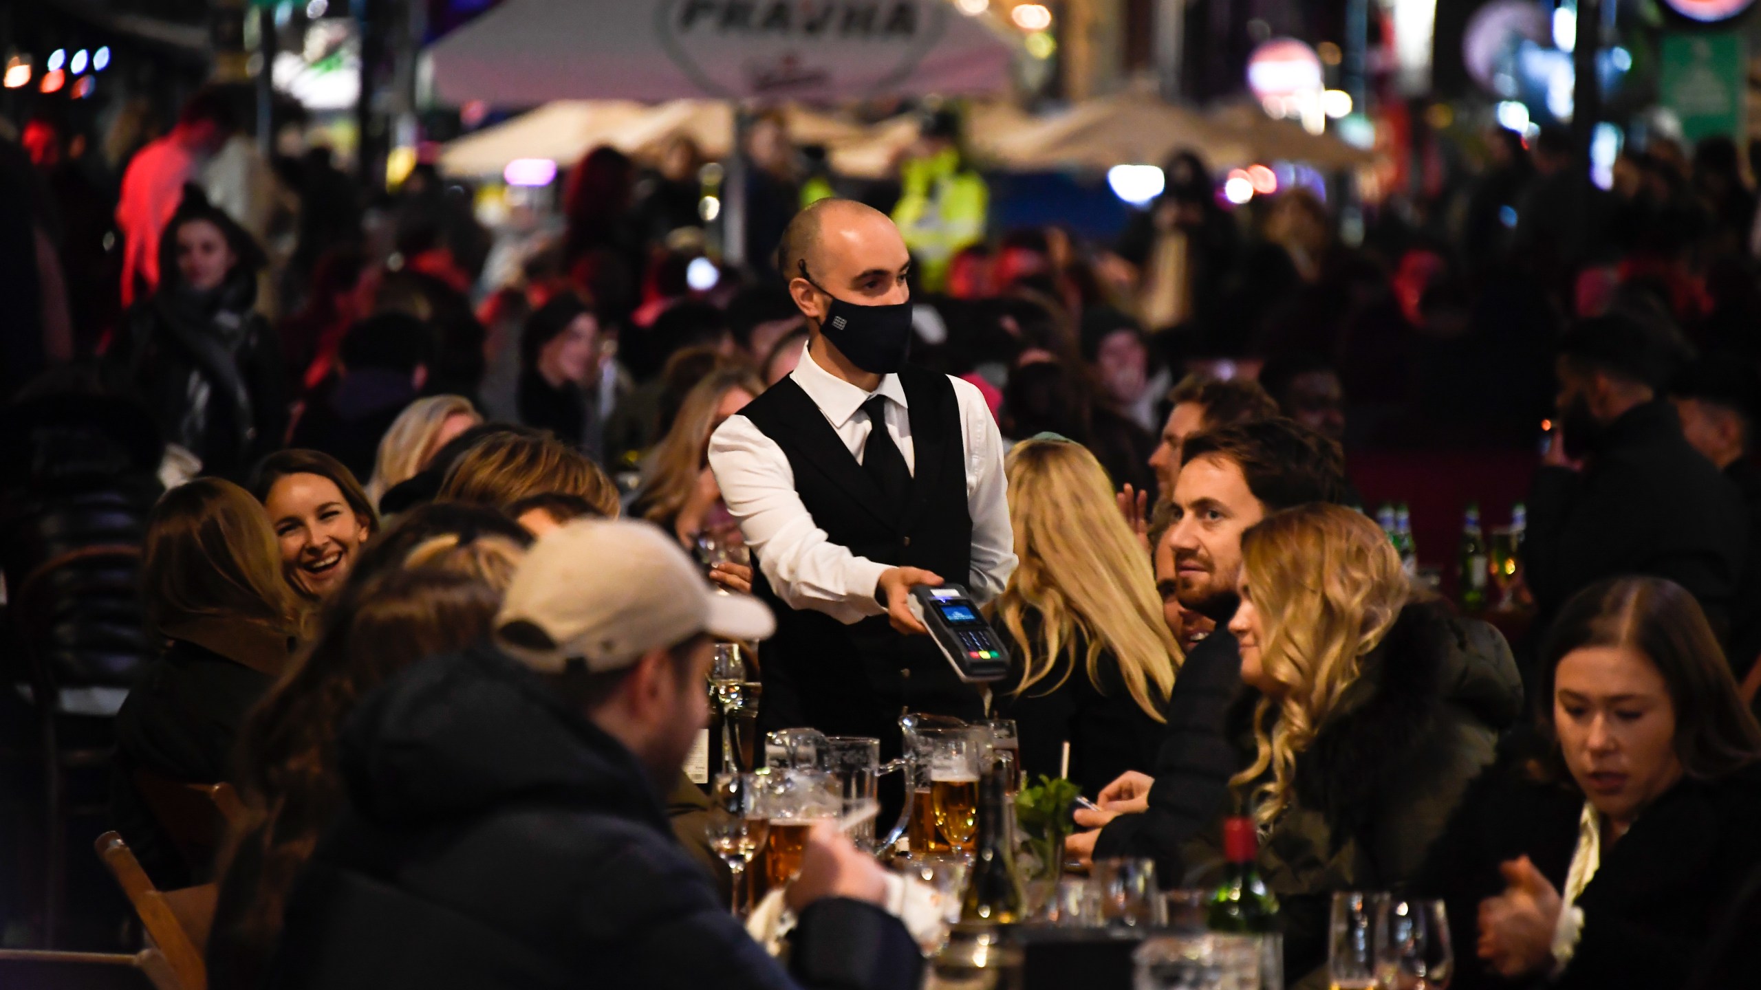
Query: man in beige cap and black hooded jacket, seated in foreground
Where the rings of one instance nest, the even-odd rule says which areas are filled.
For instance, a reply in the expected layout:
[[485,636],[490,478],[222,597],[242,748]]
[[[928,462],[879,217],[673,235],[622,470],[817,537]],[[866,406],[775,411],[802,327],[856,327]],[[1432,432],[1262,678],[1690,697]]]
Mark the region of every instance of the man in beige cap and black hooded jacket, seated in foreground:
[[916,986],[886,872],[821,826],[785,972],[674,840],[659,794],[708,722],[713,639],[770,611],[667,534],[578,520],[527,555],[495,641],[423,661],[340,738],[349,810],[287,909],[273,988]]

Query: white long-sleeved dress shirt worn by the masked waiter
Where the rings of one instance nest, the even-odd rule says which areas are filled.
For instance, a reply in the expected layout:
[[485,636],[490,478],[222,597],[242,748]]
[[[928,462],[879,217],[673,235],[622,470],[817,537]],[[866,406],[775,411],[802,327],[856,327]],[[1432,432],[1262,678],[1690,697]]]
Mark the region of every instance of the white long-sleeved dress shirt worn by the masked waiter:
[[[898,375],[884,375],[880,388],[868,393],[821,368],[810,349],[801,345],[801,363],[789,377],[814,400],[858,463],[863,460],[868,430],[873,428],[861,412],[863,402],[872,395],[886,396],[886,430],[916,476],[910,414]],[[1016,564],[1002,472],[1002,437],[979,389],[960,379],[949,382],[960,403],[967,513],[972,516],[972,573],[942,574],[942,580],[965,580],[967,590],[983,604],[1002,594]],[[838,622],[886,613],[875,601],[875,583],[893,565],[858,557],[829,541],[794,490],[787,454],[750,419],[734,414],[715,430],[710,437],[710,469],[715,470],[727,511],[740,521],[740,532],[757,555],[777,597],[791,608],[812,608]]]

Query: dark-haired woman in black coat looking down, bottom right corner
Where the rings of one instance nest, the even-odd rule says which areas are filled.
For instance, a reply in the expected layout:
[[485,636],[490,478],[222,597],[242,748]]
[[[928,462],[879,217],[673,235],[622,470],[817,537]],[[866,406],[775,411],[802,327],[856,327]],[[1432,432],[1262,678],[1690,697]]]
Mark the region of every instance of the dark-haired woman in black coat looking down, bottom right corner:
[[1416,883],[1453,986],[1682,986],[1761,863],[1761,726],[1661,578],[1574,595],[1539,689],[1543,756],[1476,784]]

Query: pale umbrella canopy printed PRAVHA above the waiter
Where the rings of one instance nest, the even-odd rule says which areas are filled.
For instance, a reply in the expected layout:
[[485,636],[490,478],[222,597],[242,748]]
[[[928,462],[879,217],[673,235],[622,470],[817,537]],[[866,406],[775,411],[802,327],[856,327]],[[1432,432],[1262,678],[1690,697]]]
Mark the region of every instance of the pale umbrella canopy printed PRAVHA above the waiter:
[[988,25],[949,0],[507,0],[428,53],[454,102],[831,102],[1002,92]]

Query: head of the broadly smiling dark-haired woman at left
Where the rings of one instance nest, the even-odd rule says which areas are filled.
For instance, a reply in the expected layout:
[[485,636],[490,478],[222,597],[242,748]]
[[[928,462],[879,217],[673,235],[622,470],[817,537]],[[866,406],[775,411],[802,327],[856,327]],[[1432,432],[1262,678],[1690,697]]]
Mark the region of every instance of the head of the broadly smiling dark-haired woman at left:
[[276,451],[257,465],[250,491],[262,502],[282,551],[282,574],[306,599],[342,587],[379,514],[361,483],[319,451]]

